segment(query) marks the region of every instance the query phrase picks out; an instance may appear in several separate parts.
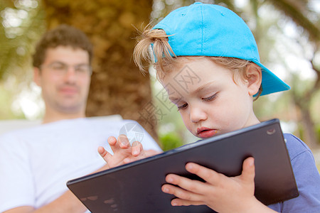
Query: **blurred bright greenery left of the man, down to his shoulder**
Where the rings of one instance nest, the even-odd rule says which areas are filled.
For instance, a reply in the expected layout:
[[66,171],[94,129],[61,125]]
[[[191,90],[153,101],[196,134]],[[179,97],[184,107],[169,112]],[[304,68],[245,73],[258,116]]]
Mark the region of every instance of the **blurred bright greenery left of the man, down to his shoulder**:
[[45,28],[40,0],[1,0],[0,119],[25,118],[14,102],[32,81],[31,55]]

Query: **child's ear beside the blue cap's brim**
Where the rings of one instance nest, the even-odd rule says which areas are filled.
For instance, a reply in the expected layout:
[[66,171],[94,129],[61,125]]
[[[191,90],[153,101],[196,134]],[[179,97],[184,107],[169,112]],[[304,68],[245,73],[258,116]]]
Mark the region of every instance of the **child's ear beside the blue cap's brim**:
[[259,88],[262,82],[262,71],[261,68],[254,64],[250,63],[245,67],[245,75],[247,82],[247,88],[250,95],[257,94],[259,92]]

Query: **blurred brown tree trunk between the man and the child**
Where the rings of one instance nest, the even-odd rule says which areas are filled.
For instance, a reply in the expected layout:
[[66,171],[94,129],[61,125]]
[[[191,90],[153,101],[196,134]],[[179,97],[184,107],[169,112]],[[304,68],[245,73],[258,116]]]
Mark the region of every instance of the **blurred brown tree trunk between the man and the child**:
[[[132,60],[137,31],[149,23],[152,1],[144,0],[44,0],[48,28],[68,23],[84,31],[95,48],[87,116],[120,114],[133,119],[157,141],[149,76]],[[132,26],[133,25],[133,26]],[[143,115],[143,116],[142,116]]]

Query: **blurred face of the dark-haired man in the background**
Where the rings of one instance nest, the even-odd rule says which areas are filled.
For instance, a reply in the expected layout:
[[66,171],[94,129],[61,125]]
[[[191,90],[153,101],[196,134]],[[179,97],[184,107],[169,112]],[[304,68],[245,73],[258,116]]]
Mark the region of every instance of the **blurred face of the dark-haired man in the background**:
[[90,73],[87,51],[65,46],[48,49],[41,69],[34,72],[46,110],[65,114],[85,111]]

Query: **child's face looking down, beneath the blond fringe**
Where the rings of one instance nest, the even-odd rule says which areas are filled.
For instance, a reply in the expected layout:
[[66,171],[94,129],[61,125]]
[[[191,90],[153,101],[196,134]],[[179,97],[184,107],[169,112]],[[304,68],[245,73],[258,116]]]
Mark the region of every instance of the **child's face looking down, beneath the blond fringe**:
[[207,58],[183,60],[161,80],[188,131],[209,138],[259,123],[248,83]]

